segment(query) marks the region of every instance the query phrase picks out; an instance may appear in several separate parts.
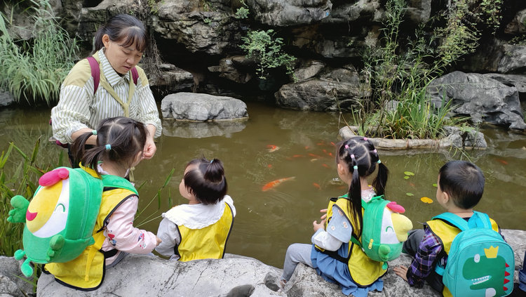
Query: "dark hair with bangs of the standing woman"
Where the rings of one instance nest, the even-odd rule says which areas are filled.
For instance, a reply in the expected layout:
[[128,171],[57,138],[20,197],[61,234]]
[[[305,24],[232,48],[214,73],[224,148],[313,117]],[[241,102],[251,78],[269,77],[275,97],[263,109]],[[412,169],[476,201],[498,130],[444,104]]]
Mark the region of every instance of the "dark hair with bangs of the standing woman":
[[148,45],[148,36],[144,24],[133,15],[115,15],[106,24],[100,26],[95,33],[95,51],[104,46],[102,44],[104,34],[108,34],[111,41],[122,41],[122,44],[119,45],[125,48],[135,44],[137,46],[135,49],[141,53]]

